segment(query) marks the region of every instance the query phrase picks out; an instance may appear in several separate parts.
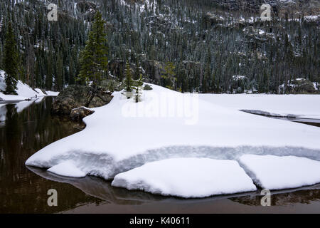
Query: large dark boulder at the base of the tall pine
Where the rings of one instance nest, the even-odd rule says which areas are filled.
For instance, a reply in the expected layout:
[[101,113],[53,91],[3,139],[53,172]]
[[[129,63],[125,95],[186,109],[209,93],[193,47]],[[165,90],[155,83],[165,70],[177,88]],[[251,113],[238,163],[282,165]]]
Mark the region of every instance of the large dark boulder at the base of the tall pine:
[[71,110],[79,107],[95,108],[110,103],[112,93],[100,87],[68,86],[53,102],[51,112],[57,115],[70,115]]

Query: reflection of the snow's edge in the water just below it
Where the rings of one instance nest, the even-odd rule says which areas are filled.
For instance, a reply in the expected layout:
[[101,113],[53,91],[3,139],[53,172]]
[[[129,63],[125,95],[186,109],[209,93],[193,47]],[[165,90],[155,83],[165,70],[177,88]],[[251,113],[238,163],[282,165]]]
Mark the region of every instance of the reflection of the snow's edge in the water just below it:
[[[218,195],[215,197],[207,197],[204,199],[182,199],[178,197],[164,197],[161,195],[153,195],[148,192],[142,191],[129,191],[120,187],[112,187],[110,181],[105,181],[98,177],[86,176],[85,178],[70,178],[54,175],[53,173],[46,172],[46,170],[36,167],[28,167],[31,171],[37,175],[46,178],[47,180],[53,180],[55,182],[64,182],[77,187],[85,192],[87,195],[97,197],[105,200],[105,202],[112,204],[137,204],[141,205],[150,202],[166,201],[169,204],[176,204],[178,202],[196,203],[203,201],[213,201],[218,199],[230,199],[233,202],[239,202],[240,204],[250,206],[261,206],[260,195],[261,190],[256,192],[245,192],[234,195]],[[311,201],[320,199],[320,184],[308,187],[300,187],[294,190],[278,190],[272,191],[272,206],[285,205],[285,204],[309,204]],[[169,199],[169,200],[168,200]]]

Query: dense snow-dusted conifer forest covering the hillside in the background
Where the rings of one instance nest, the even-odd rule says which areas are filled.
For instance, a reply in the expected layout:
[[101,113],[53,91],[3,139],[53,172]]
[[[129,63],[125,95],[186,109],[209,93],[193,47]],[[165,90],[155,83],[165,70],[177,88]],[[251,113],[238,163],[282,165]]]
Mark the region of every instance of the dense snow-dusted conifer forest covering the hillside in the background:
[[[314,15],[319,3],[279,8],[272,1],[272,20],[261,21],[259,7],[265,1],[243,1],[250,4],[245,7],[233,2],[238,3],[1,0],[0,68],[5,68],[11,24],[16,79],[46,90],[85,83],[78,80],[80,53],[100,11],[107,66],[98,84],[110,90],[124,83],[128,63],[133,79],[142,74],[146,82],[182,92],[296,93],[291,86],[299,78],[306,83],[299,92],[319,91],[319,18]],[[58,5],[58,21],[48,21],[50,3]]]

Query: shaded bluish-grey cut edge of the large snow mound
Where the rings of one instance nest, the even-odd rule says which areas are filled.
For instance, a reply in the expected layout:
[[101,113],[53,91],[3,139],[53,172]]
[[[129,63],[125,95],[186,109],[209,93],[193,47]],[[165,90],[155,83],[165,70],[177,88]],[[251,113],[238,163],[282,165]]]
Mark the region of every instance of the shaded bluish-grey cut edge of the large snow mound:
[[[140,167],[148,162],[156,162],[169,158],[202,157],[219,160],[238,160],[242,155],[294,155],[297,157],[308,157],[320,161],[320,150],[307,149],[304,147],[210,147],[210,146],[171,146],[161,147],[153,150],[116,160],[107,152],[84,152],[72,150],[52,157],[38,156],[36,154],[26,161],[26,165],[50,168],[65,161],[72,161],[78,170],[86,175],[102,177],[112,180],[115,175]],[[71,175],[72,176],[72,175]]]

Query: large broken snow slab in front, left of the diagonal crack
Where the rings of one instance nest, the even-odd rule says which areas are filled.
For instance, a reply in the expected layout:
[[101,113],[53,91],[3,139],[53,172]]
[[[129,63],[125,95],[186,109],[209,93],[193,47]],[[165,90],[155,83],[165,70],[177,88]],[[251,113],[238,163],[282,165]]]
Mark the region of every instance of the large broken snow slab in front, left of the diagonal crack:
[[209,158],[172,158],[150,162],[119,173],[114,177],[112,186],[185,198],[257,190],[238,162]]

